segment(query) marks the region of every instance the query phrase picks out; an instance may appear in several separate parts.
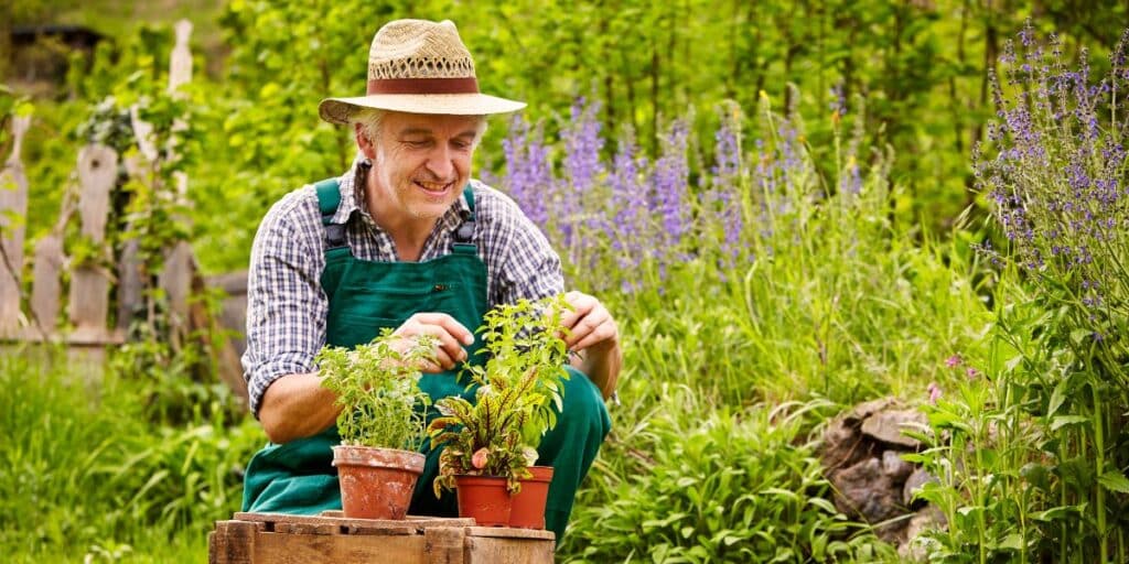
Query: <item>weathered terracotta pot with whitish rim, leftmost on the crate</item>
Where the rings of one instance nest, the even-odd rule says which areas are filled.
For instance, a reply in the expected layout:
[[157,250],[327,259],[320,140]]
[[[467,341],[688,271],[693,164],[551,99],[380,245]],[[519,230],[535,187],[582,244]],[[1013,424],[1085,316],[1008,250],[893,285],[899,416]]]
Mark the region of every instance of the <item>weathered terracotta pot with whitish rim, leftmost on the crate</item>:
[[410,450],[339,444],[333,466],[341,479],[341,508],[356,519],[403,519],[415,481],[423,474],[423,455]]

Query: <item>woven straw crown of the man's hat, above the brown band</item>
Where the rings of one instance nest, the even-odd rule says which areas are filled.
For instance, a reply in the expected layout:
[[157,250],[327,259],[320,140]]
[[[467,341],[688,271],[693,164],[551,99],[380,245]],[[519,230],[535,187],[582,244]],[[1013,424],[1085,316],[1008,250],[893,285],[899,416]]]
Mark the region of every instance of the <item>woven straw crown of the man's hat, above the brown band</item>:
[[368,51],[368,79],[474,78],[471,52],[450,20],[400,19]]

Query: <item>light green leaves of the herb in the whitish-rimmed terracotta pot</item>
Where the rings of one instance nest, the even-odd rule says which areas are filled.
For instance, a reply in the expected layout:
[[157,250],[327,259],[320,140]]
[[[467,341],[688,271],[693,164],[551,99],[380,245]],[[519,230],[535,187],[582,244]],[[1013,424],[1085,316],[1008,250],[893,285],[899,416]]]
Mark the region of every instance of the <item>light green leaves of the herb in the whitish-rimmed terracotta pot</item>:
[[384,329],[371,343],[353,349],[326,346],[314,359],[322,386],[336,394],[341,442],[417,451],[427,435],[425,414],[431,400],[420,390],[421,363],[435,337],[404,340]]

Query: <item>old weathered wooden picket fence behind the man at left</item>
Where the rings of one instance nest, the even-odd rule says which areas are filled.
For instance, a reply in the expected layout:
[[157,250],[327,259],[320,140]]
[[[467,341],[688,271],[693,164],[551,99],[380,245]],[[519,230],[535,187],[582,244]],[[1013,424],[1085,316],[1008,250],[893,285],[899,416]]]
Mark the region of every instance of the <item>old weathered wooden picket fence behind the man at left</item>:
[[[175,29],[176,45],[169,61],[168,82],[169,92],[174,96],[181,85],[192,78],[192,55],[189,51],[192,25],[181,20]],[[117,186],[121,168],[124,167],[128,175],[137,177],[146,162],[157,162],[158,149],[152,142],[151,125],[138,118],[135,107],[131,114],[139,149],[137,158],[121,162],[113,149],[100,144],[88,144],[79,150],[75,175],[78,179],[77,197],[63,197],[59,220],[46,235],[35,241],[30,257],[29,297],[21,291],[25,285],[21,273],[27,258],[24,256],[24,218],[27,217],[28,179],[20,160],[29,118],[12,118],[11,153],[0,171],[0,342],[8,343],[9,346],[19,343],[63,344],[73,359],[94,367],[93,373],[100,373],[98,367],[104,361],[107,347],[126,342],[129,324],[145,300],[145,265],[138,257],[139,241],[123,241],[113,267],[99,265],[95,261],[72,264],[64,255],[63,231],[77,215],[81,236],[96,248],[103,246],[111,213],[111,196]],[[174,129],[177,126],[183,125],[174,125]],[[187,177],[177,174],[174,182],[176,186],[172,190],[176,190],[178,197],[186,199]],[[65,317],[62,316],[64,274],[70,277]],[[209,282],[233,292],[225,300],[225,308],[231,309],[225,309],[218,319],[212,319],[202,305],[191,299],[194,292],[202,292]],[[219,363],[220,379],[246,400],[246,385],[238,360],[243,351],[246,273],[205,280],[196,268],[190,244],[177,241],[164,252],[164,268],[157,283],[167,297],[169,338],[174,341],[174,347],[182,346],[183,340],[195,331],[222,328],[235,335],[225,340],[224,346],[212,353]],[[115,292],[113,300],[112,291]],[[116,315],[113,317],[110,315],[112,301],[116,303]],[[111,323],[112,319],[116,321]]]

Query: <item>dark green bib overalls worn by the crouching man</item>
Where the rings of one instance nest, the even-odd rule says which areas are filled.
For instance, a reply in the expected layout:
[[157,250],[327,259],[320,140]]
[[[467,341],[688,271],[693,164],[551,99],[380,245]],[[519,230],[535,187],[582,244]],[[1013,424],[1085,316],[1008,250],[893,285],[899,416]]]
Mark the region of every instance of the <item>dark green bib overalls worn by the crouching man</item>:
[[[353,257],[345,244],[344,224],[332,223],[341,200],[338,180],[323,180],[315,188],[326,236],[325,270],[321,282],[330,301],[327,344],[351,347],[367,343],[382,328],[396,328],[420,311],[450,315],[472,331],[482,325],[488,309],[487,267],[471,243],[474,195],[470,186],[463,194],[471,214],[456,230],[453,252],[420,263],[386,263]],[[467,347],[472,362],[483,362],[481,355],[475,354],[480,347],[481,340]],[[537,449],[537,464],[554,468],[545,523],[558,539],[568,523],[577,487],[611,430],[599,390],[571,367],[569,373],[570,378],[563,382],[564,407],[557,428],[545,434]],[[473,398],[473,390],[466,390],[467,379],[460,381],[457,378],[457,369],[423,374],[420,388],[432,400],[453,395]],[[428,421],[436,415],[432,407]],[[336,468],[331,465],[331,447],[339,442],[336,425],[332,425],[314,437],[283,444],[269,443],[247,465],[243,511],[317,514],[323,510],[341,509]],[[427,455],[427,462],[415,485],[409,512],[456,515],[454,493],[448,492],[436,499],[431,490],[441,450],[431,450],[430,444],[425,443],[421,451]]]

